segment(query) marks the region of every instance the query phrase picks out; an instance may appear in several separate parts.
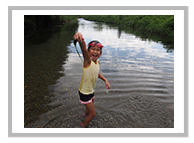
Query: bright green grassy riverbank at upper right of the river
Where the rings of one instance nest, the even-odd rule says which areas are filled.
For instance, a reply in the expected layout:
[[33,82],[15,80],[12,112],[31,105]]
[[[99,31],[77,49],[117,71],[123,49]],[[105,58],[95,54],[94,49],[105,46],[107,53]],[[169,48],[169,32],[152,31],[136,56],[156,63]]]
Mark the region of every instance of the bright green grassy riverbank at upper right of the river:
[[173,15],[82,15],[84,19],[128,26],[150,33],[174,36]]

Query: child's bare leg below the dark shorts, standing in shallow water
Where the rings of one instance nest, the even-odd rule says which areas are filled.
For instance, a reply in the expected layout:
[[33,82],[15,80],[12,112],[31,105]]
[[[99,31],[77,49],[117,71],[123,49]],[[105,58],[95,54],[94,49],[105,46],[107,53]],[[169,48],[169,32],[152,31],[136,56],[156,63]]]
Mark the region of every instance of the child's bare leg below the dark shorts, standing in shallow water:
[[86,110],[88,111],[88,115],[86,116],[84,120],[84,125],[88,125],[90,121],[95,117],[96,111],[94,109],[94,104],[93,102],[89,104],[85,104]]

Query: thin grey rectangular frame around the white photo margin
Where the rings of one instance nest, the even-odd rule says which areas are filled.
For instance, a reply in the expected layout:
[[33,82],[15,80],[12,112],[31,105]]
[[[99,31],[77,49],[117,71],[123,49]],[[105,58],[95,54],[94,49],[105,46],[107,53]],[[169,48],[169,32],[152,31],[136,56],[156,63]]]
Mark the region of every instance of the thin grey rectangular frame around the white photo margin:
[[[183,10],[184,133],[13,133],[12,11],[13,10]],[[188,137],[188,6],[8,6],[8,137]]]

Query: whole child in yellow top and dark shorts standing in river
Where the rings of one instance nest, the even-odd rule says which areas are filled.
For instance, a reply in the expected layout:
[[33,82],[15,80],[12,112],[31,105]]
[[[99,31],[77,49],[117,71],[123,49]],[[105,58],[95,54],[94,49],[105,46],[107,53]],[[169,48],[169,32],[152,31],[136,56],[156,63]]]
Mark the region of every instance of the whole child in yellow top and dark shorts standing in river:
[[98,41],[91,41],[86,48],[86,43],[80,32],[76,33],[74,39],[79,42],[84,57],[82,79],[79,87],[80,102],[85,105],[86,118],[81,124],[82,128],[88,127],[90,121],[96,115],[94,109],[94,88],[97,78],[105,82],[106,88],[110,89],[108,80],[99,73],[98,58],[102,54],[102,45]]

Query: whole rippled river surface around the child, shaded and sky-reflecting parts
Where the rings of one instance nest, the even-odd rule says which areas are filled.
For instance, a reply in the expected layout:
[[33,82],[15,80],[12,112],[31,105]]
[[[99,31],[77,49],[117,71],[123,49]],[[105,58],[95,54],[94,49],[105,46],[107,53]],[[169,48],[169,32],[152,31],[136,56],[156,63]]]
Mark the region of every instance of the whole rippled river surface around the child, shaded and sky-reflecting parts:
[[104,45],[100,73],[111,85],[108,91],[103,81],[96,83],[90,128],[173,128],[174,53],[166,48],[173,46],[84,19],[25,36],[24,127],[78,128],[83,122],[77,31],[86,43]]

